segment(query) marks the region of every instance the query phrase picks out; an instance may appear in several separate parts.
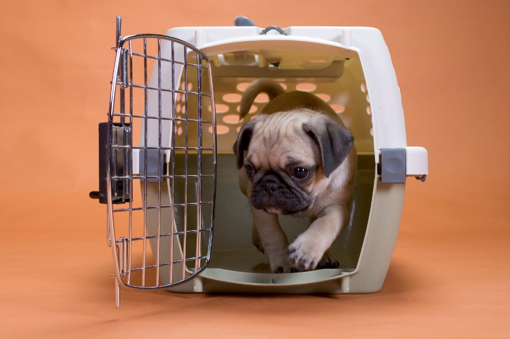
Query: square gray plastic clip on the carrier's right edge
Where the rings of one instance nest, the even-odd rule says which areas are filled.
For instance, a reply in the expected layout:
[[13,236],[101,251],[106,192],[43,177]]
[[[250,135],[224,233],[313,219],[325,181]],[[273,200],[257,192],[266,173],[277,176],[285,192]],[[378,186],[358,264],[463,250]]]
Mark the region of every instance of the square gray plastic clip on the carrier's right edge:
[[405,148],[381,148],[381,183],[405,183]]

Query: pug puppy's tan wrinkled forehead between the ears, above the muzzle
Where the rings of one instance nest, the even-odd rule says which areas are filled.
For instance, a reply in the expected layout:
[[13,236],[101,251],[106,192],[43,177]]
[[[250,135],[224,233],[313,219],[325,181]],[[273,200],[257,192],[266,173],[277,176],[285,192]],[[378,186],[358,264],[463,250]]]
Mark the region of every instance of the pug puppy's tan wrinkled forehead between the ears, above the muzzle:
[[[282,168],[290,162],[313,162],[319,159],[318,149],[303,130],[308,114],[288,111],[260,115],[253,130],[246,159],[264,168]],[[252,147],[256,145],[255,147]]]

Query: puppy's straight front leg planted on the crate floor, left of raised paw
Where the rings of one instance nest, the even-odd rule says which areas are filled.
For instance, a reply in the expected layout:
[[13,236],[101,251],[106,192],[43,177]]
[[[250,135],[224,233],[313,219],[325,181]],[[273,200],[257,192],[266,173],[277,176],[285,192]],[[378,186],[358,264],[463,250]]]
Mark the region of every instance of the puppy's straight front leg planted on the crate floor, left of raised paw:
[[260,243],[269,258],[269,265],[273,273],[289,273],[295,269],[287,253],[289,241],[278,222],[276,214],[269,214],[263,210],[251,208],[253,227],[259,235]]

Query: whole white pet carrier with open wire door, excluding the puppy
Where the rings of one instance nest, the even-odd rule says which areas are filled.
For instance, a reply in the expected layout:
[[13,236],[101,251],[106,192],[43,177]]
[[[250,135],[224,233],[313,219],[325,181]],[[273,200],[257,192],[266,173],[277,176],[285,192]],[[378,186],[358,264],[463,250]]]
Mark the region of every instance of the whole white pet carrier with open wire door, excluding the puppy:
[[[246,21],[238,18],[237,22]],[[273,274],[251,243],[233,144],[254,79],[314,93],[355,137],[351,216],[335,269]],[[268,101],[259,95],[247,119]],[[99,191],[119,286],[174,292],[370,293],[395,246],[406,177],[427,152],[407,147],[401,99],[380,32],[368,27],[180,27],[121,38],[109,119],[99,124]],[[280,219],[289,239],[308,220]],[[213,237],[214,234],[214,237]]]

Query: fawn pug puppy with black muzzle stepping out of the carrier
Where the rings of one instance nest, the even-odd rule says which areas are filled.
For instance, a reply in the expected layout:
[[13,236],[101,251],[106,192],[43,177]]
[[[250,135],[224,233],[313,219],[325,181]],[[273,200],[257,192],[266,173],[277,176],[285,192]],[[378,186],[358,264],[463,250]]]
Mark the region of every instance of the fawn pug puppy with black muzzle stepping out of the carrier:
[[[273,273],[338,267],[327,250],[350,217],[354,138],[326,102],[307,92],[286,93],[269,79],[248,86],[241,119],[261,92],[269,103],[241,127],[234,145],[239,186],[251,207],[253,244],[267,254]],[[278,214],[312,222],[289,244]]]

